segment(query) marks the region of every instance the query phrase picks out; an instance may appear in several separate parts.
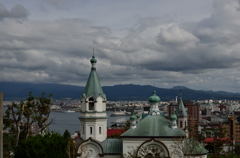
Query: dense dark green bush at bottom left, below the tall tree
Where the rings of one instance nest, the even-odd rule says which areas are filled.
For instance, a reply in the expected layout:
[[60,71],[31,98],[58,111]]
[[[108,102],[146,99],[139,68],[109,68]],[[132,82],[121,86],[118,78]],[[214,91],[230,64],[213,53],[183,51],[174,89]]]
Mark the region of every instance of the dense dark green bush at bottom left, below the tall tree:
[[59,133],[30,136],[14,148],[15,158],[66,158],[68,140]]

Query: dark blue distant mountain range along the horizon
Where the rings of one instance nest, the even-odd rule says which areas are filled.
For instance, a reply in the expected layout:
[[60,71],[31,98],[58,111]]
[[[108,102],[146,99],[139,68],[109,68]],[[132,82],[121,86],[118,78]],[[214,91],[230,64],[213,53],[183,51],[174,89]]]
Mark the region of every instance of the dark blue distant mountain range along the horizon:
[[[182,90],[183,99],[202,100],[202,99],[227,99],[240,100],[240,93],[231,93],[225,91],[203,91],[193,90],[184,86],[175,86],[171,89],[157,88],[150,85],[115,85],[104,86],[103,91],[110,100],[147,100],[153,91],[163,101],[175,99],[179,95],[179,89]],[[54,99],[79,99],[84,87],[54,84],[54,83],[19,83],[19,82],[0,82],[0,92],[4,93],[4,100],[20,100],[28,97],[32,92],[34,96],[41,96],[42,92],[46,95],[53,94]]]

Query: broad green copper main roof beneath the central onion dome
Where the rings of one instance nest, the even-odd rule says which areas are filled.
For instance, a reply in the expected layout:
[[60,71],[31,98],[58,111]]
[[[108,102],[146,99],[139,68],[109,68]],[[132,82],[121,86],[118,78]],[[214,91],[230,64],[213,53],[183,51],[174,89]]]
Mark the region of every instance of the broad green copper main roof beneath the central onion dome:
[[129,129],[121,137],[174,137],[186,136],[186,133],[180,128],[172,129],[171,122],[161,115],[148,115],[137,123],[135,129]]

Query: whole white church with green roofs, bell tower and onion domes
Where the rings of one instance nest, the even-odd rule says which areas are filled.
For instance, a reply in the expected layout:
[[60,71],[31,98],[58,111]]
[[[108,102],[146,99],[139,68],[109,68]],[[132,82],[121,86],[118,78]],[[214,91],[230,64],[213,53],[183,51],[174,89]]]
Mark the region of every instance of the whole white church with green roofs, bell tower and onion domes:
[[158,108],[160,98],[155,91],[148,99],[151,107],[146,117],[140,119],[139,115],[132,115],[129,130],[120,138],[107,138],[107,97],[97,75],[97,60],[94,56],[90,62],[91,72],[80,98],[82,141],[78,147],[79,157],[207,157],[208,151],[202,144],[188,138],[187,132],[183,130],[187,126],[187,111],[182,102],[180,101],[168,120]]

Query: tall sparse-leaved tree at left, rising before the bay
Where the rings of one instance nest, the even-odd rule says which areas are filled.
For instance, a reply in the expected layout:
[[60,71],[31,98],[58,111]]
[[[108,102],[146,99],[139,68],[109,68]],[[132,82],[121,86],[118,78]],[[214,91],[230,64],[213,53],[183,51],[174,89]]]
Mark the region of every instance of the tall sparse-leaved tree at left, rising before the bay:
[[22,139],[27,139],[31,134],[32,127],[39,129],[39,133],[44,133],[48,126],[53,122],[49,120],[50,105],[52,94],[46,98],[45,93],[42,96],[33,97],[29,93],[29,97],[24,102],[19,104],[12,103],[3,116],[4,128],[9,128],[10,132],[15,136],[15,146],[18,145],[20,136]]

